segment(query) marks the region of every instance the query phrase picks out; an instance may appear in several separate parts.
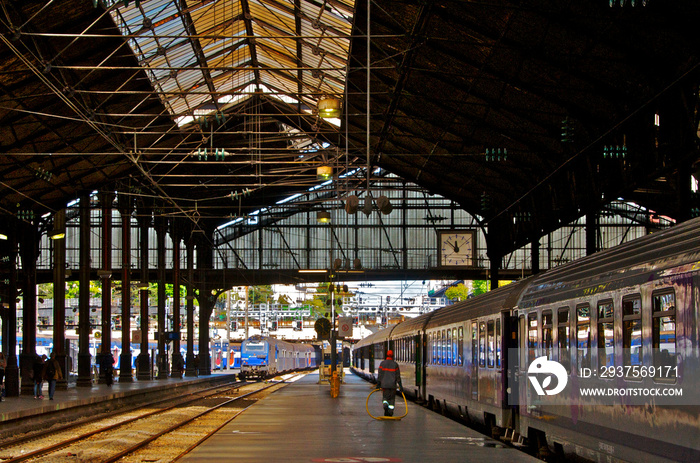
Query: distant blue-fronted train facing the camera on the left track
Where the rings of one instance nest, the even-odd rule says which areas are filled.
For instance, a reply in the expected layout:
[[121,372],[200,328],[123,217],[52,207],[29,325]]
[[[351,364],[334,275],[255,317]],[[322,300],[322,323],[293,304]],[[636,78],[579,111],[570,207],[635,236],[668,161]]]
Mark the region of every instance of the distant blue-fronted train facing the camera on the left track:
[[251,336],[241,343],[241,379],[268,378],[317,366],[316,350],[309,344],[266,336]]

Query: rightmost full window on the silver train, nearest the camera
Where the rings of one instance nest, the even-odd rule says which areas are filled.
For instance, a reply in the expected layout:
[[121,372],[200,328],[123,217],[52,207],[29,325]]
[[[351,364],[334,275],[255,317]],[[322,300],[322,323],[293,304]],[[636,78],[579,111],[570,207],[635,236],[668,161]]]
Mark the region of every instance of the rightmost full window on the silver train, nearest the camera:
[[654,367],[661,380],[676,379],[676,297],[674,293],[652,295],[651,347]]

